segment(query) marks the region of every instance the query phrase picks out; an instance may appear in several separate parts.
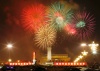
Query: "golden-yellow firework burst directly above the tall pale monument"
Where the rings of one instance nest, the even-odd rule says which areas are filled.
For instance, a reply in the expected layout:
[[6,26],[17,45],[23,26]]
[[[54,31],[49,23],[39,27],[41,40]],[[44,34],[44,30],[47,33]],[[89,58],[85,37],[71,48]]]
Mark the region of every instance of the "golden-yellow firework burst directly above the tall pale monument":
[[42,26],[35,34],[36,44],[46,49],[51,47],[56,39],[56,30],[49,24]]

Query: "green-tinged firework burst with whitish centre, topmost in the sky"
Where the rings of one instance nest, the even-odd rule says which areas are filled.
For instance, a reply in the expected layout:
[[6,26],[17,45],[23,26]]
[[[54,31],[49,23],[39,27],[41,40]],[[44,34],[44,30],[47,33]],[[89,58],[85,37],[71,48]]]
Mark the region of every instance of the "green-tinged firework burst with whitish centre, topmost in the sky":
[[72,12],[66,7],[65,3],[55,2],[49,7],[47,11],[49,22],[54,25],[56,29],[63,29],[67,22],[69,22]]

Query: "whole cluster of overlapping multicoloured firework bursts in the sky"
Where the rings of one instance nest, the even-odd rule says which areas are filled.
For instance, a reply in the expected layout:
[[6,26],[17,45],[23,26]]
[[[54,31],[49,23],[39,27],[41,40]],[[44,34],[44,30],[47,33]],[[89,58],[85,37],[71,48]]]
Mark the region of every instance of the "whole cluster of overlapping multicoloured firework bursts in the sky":
[[[73,15],[66,2],[55,2],[48,9],[42,4],[27,7],[22,12],[23,26],[35,31],[35,41],[39,47],[51,47],[56,39],[56,30],[64,29],[67,35],[87,39],[94,31],[94,18],[85,11]],[[45,25],[45,26],[44,26]]]

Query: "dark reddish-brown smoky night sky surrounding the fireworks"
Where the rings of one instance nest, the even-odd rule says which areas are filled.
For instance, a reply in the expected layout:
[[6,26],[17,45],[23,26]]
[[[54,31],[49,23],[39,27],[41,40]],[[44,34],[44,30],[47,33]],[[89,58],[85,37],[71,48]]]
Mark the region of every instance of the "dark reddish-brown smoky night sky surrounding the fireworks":
[[[59,1],[59,0],[55,0]],[[76,4],[80,9],[86,9],[95,17],[95,31],[86,43],[95,41],[100,43],[100,2],[99,0],[65,0],[71,4]],[[32,60],[32,52],[36,51],[37,59],[39,56],[46,54],[45,50],[41,50],[34,45],[33,35],[29,35],[22,28],[21,12],[22,9],[35,2],[43,3],[48,6],[53,0],[0,0],[0,60],[6,61],[9,50],[6,48],[7,43],[13,43],[10,50],[13,60]],[[63,32],[58,33],[58,39],[52,49],[53,53],[67,53],[72,60],[80,51],[80,40],[68,40]],[[73,46],[74,45],[74,46]]]

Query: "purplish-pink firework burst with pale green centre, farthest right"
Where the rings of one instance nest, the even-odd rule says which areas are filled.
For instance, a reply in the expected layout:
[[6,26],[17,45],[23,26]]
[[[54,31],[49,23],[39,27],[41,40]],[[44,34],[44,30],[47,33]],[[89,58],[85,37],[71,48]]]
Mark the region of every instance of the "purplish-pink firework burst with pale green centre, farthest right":
[[72,24],[75,24],[76,36],[81,39],[87,39],[94,31],[94,18],[85,11],[77,12],[73,16]]

